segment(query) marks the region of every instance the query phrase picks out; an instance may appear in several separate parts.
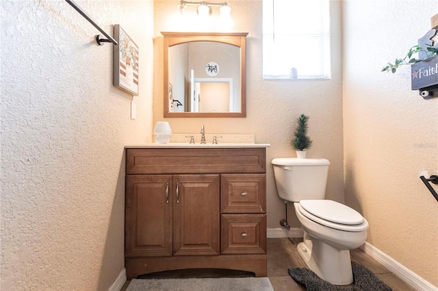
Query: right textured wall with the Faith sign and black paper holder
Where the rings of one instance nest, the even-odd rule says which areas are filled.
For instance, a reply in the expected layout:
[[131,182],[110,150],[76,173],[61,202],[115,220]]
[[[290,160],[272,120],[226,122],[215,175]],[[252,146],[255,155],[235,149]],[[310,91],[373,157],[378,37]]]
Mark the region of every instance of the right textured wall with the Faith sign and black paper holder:
[[438,202],[419,178],[438,170],[438,98],[411,91],[408,66],[381,72],[430,29],[437,1],[417,2],[344,2],[345,199],[369,243],[438,286]]

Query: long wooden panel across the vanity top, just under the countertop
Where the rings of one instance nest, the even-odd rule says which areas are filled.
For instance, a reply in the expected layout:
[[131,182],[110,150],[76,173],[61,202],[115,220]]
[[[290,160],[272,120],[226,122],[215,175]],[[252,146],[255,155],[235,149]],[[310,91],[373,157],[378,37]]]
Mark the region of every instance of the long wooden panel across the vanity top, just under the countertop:
[[128,148],[127,174],[266,173],[266,148]]

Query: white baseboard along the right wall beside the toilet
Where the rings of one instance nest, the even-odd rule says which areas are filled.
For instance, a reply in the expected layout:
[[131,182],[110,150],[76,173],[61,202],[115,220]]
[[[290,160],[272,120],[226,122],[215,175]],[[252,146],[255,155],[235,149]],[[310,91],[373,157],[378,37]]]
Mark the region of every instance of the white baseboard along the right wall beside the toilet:
[[415,290],[438,291],[436,286],[433,286],[419,275],[413,273],[413,271],[409,270],[409,268],[406,268],[370,243],[365,242],[361,246],[361,249],[365,251],[367,255],[370,255],[370,257],[374,258],[374,260],[381,263],[382,266],[385,266],[385,268],[394,273],[397,277],[415,288]]

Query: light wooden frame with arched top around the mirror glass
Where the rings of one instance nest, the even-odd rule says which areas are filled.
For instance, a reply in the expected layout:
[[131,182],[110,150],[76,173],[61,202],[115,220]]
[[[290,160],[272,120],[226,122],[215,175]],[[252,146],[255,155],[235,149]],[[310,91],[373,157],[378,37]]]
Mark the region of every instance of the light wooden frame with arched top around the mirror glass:
[[[246,117],[246,36],[248,33],[164,32],[164,117]],[[186,42],[221,42],[240,47],[240,112],[170,112],[168,53],[171,46]]]

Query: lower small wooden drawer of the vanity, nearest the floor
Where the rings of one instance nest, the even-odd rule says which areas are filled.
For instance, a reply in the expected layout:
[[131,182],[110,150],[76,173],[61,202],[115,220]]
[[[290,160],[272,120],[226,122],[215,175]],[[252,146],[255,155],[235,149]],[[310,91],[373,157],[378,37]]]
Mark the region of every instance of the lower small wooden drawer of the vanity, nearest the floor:
[[266,214],[222,214],[220,252],[266,253]]

